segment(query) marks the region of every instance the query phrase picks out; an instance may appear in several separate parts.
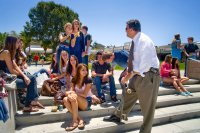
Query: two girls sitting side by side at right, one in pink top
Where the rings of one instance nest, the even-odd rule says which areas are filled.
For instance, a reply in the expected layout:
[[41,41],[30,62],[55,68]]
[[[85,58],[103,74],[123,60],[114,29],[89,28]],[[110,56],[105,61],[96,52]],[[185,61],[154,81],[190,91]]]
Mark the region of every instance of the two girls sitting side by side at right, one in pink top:
[[192,96],[191,92],[187,91],[183,83],[188,81],[189,78],[181,77],[180,67],[177,58],[172,58],[171,55],[166,55],[165,60],[160,67],[161,80],[165,84],[172,84],[178,94],[183,96]]

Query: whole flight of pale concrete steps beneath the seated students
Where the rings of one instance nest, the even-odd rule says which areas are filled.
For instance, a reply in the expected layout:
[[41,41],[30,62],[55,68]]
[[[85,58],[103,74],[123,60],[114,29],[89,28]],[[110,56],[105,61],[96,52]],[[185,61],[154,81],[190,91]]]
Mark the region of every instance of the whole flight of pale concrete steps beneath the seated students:
[[[120,98],[122,90],[120,89],[118,76],[121,71],[115,71],[115,81],[117,87],[117,97]],[[175,89],[171,86],[160,86],[158,100],[156,105],[156,113],[154,125],[165,125],[172,122],[180,122],[185,120],[200,118],[200,83],[198,80],[189,80],[185,88],[192,92],[193,96],[180,96],[175,94]],[[14,95],[14,89],[10,87],[10,93]],[[10,97],[11,98],[11,97]],[[142,115],[140,106],[137,102],[135,108],[128,117],[128,121],[122,121],[120,124],[104,122],[103,117],[112,114],[118,104],[110,101],[109,95],[106,95],[108,103],[105,105],[92,105],[92,110],[80,111],[80,115],[86,121],[84,130],[76,129],[73,132],[127,132],[138,130],[142,124]],[[10,99],[10,102],[14,98]],[[8,100],[9,101],[9,100]],[[65,127],[71,122],[71,115],[64,109],[63,111],[51,112],[53,106],[53,98],[40,96],[39,101],[45,105],[45,109],[40,109],[39,112],[23,113],[21,110],[16,110],[16,107],[11,108],[13,111],[12,122],[16,124],[12,130],[4,128],[1,131],[16,132],[16,133],[64,133]],[[14,120],[13,120],[14,117]],[[9,121],[8,121],[9,122]],[[199,122],[200,123],[200,122]],[[0,123],[0,129],[1,127]],[[8,126],[9,127],[9,126]],[[3,133],[3,132],[2,132]]]

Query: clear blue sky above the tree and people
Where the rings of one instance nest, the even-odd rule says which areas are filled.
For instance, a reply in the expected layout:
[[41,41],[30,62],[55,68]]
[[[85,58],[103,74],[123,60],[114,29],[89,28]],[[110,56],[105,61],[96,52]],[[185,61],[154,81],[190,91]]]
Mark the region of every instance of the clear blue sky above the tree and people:
[[[20,32],[29,21],[28,12],[40,0],[0,0],[0,32]],[[46,0],[45,0],[46,1]],[[199,0],[54,0],[79,14],[89,27],[93,40],[104,45],[123,45],[126,21],[139,19],[142,32],[156,45],[166,45],[173,35],[181,34],[182,42],[188,36],[200,41]]]

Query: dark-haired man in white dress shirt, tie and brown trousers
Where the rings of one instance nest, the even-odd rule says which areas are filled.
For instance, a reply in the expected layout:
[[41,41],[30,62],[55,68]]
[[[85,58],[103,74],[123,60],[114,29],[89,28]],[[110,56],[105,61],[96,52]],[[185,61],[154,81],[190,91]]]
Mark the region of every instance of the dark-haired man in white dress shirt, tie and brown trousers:
[[127,115],[139,100],[143,115],[140,133],[150,133],[160,83],[159,60],[154,43],[141,32],[138,20],[127,22],[126,33],[132,39],[132,44],[128,58],[128,74],[121,82],[125,84],[129,80],[128,89],[122,95],[120,106],[111,116],[104,117],[104,121],[128,120]]

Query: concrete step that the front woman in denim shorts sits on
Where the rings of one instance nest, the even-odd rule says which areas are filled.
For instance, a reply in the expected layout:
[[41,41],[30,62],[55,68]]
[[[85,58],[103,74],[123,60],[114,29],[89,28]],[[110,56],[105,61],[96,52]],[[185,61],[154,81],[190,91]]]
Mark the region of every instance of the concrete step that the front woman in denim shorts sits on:
[[[194,96],[180,96],[180,95],[163,95],[158,96],[156,108],[163,108],[168,106],[175,106],[180,104],[187,103],[197,103],[200,102],[200,92],[193,93]],[[139,110],[140,107],[137,102],[136,107],[133,110]],[[80,111],[80,115],[83,118],[94,118],[110,115],[118,104],[113,104],[109,102],[107,105],[96,105],[92,106],[90,111]],[[33,124],[42,124],[56,121],[70,120],[70,113],[66,113],[67,109],[64,109],[61,112],[51,112],[52,106],[46,107],[46,109],[41,109],[39,112],[32,113],[23,113],[18,111],[15,119],[16,124],[20,125],[33,125]]]

